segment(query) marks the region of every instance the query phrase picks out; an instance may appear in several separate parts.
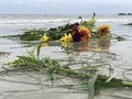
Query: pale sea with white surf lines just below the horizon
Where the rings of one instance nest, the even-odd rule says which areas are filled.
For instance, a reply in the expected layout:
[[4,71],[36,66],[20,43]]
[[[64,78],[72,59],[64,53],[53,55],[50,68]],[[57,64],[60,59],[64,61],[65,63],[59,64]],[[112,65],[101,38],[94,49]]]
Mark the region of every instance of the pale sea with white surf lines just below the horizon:
[[[119,15],[99,15],[97,22],[112,22],[112,23],[129,23],[131,16]],[[85,16],[84,20],[88,20],[89,16]],[[78,22],[77,16],[65,15],[0,15],[0,24],[43,24],[43,23],[68,23]]]

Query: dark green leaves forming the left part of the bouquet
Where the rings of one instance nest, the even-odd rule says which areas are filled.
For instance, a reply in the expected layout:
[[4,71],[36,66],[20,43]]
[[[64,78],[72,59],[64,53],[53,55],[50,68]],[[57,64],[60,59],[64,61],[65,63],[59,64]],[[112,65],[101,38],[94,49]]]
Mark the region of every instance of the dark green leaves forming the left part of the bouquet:
[[69,24],[58,26],[58,28],[51,28],[48,30],[25,30],[24,34],[18,35],[22,41],[37,41],[40,40],[44,33],[50,36],[50,40],[59,40],[62,35],[68,32]]

